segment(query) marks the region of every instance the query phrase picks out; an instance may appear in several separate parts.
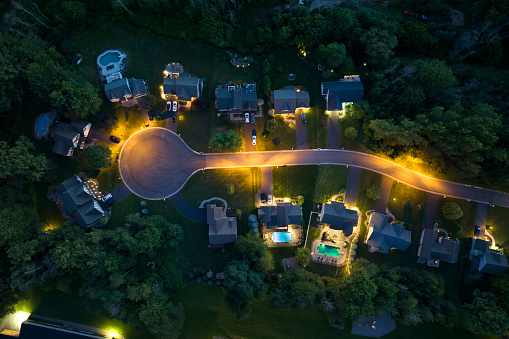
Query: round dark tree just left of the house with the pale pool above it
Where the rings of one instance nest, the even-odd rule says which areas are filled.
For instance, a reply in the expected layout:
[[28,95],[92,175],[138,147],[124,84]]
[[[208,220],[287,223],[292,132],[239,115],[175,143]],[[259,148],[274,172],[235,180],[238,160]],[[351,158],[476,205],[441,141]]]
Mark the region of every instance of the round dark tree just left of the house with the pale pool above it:
[[69,119],[86,119],[99,112],[102,100],[97,89],[88,81],[75,79],[62,81],[51,92],[50,98],[55,107]]

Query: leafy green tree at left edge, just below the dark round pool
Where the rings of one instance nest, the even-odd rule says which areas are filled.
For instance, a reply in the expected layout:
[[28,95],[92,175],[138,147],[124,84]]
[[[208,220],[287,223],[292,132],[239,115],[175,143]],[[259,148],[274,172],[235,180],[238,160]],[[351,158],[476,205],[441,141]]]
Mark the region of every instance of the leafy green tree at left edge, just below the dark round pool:
[[48,167],[44,155],[33,155],[34,145],[25,136],[20,136],[14,147],[0,141],[0,179],[16,178],[40,181]]

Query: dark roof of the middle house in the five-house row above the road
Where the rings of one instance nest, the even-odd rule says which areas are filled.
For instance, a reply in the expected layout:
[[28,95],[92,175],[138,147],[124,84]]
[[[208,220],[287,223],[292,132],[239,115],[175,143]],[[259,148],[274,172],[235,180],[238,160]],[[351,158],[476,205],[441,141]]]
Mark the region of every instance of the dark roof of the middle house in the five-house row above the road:
[[217,109],[229,113],[254,111],[258,108],[256,92],[246,88],[218,88],[216,90]]

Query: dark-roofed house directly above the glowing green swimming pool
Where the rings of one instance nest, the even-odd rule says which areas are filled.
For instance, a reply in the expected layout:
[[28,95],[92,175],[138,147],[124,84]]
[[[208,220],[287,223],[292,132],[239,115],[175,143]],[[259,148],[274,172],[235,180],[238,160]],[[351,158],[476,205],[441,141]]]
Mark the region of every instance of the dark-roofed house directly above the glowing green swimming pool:
[[359,222],[359,215],[357,211],[347,209],[342,202],[331,201],[322,204],[320,222],[327,224],[333,230],[343,231],[345,236],[349,236]]

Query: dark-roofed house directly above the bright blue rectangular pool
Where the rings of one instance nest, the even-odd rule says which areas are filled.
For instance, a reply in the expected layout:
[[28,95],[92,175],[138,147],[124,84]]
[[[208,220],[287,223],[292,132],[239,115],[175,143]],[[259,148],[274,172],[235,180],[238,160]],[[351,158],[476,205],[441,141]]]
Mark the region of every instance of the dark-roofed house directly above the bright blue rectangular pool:
[[258,209],[258,219],[267,229],[285,229],[288,225],[302,223],[302,207],[290,202],[278,202],[274,205],[264,205]]

